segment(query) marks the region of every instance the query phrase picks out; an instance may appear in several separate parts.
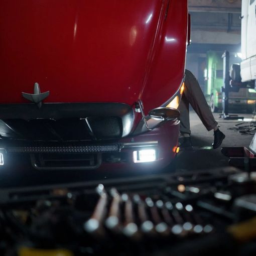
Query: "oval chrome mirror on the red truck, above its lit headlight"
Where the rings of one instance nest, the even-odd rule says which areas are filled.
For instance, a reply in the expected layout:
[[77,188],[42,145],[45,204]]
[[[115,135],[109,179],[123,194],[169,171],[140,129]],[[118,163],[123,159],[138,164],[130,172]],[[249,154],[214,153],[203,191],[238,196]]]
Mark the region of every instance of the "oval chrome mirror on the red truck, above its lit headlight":
[[170,107],[157,107],[149,111],[149,116],[156,120],[171,121],[180,116],[180,111]]

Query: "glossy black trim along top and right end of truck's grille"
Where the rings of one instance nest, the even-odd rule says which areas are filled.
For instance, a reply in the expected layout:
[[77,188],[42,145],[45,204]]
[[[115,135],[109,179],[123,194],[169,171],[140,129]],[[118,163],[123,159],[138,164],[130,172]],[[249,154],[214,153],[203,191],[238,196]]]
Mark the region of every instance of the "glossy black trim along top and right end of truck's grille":
[[0,119],[65,119],[95,116],[117,116],[122,120],[121,137],[131,133],[134,124],[134,109],[125,103],[44,103],[39,109],[34,103],[0,104]]

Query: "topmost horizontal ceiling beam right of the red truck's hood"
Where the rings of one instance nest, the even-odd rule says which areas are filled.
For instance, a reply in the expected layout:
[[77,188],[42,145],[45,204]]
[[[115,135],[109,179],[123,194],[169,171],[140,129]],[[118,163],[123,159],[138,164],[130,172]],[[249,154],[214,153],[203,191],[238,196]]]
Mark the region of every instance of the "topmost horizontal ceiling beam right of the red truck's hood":
[[241,13],[241,0],[189,0],[189,12]]

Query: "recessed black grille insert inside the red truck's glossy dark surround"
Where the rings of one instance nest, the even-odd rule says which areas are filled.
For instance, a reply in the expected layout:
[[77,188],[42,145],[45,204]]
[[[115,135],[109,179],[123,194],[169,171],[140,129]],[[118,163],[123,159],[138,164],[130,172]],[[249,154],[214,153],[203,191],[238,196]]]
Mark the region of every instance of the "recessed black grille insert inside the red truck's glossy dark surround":
[[2,138],[28,141],[91,141],[122,136],[120,117],[63,118],[53,120],[0,119]]

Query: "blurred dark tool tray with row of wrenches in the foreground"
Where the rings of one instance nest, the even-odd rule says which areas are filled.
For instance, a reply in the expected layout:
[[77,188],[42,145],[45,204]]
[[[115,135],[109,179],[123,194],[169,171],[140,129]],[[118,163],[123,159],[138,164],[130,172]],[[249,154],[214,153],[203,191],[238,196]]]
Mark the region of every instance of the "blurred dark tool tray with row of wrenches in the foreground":
[[232,236],[228,227],[256,216],[253,175],[229,167],[4,189],[0,252],[201,255],[208,246],[211,255]]

